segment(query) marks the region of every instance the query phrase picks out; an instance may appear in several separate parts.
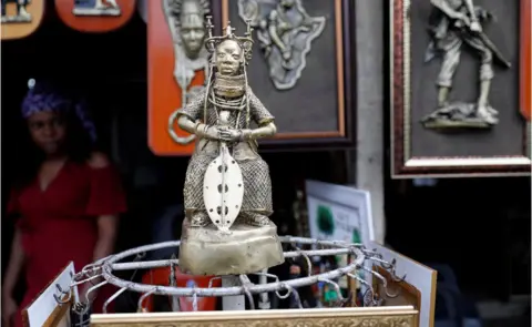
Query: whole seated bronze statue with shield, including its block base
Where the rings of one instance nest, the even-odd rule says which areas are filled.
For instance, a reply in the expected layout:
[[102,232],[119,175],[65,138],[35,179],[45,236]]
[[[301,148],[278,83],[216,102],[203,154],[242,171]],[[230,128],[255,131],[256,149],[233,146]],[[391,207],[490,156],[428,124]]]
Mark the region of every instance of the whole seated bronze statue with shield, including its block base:
[[209,19],[207,23],[207,86],[177,111],[180,126],[197,136],[185,178],[180,265],[192,274],[252,273],[283,262],[276,226],[268,218],[268,165],[256,142],[274,135],[276,126],[247,84],[250,25],[242,38],[231,24],[225,35],[213,37]]

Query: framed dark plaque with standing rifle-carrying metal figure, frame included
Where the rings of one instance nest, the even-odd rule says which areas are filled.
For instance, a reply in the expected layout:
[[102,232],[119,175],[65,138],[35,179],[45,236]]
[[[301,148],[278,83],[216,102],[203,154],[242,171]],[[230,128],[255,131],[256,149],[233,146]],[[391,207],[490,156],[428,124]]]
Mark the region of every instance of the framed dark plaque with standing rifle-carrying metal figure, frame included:
[[390,3],[392,176],[530,174],[530,0]]

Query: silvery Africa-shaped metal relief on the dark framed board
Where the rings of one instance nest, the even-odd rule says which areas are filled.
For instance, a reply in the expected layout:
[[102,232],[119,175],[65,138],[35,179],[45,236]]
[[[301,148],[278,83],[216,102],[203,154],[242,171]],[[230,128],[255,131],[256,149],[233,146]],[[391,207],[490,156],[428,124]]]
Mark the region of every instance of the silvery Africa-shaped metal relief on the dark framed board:
[[310,17],[300,0],[238,0],[238,14],[257,29],[275,88],[294,88],[311,42],[324,31],[325,17]]

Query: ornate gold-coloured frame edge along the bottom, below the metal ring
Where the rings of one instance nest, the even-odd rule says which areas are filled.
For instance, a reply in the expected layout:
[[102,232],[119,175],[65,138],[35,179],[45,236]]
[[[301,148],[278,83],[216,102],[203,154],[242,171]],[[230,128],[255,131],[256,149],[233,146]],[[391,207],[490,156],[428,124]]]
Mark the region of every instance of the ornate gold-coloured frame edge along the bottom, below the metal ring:
[[411,306],[297,310],[205,311],[172,314],[92,315],[93,327],[285,327],[296,326],[417,326]]

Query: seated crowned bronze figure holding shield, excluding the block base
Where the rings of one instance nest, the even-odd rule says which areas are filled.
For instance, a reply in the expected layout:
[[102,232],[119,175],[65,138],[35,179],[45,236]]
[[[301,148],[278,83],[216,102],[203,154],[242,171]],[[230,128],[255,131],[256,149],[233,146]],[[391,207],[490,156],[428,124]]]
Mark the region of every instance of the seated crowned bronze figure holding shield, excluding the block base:
[[[207,86],[177,111],[178,125],[197,136],[186,171],[186,217],[192,227],[211,222],[219,229],[228,229],[233,222],[267,226],[272,182],[268,165],[257,153],[256,140],[274,135],[276,126],[274,116],[247,84],[252,30],[248,24],[246,37],[236,37],[227,25],[225,35],[213,37],[207,20],[206,48],[212,53]],[[252,122],[258,127],[253,129]],[[205,177],[211,172],[222,174],[219,184],[211,186],[213,177]],[[206,207],[209,192],[221,195],[218,207]]]

